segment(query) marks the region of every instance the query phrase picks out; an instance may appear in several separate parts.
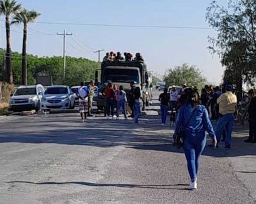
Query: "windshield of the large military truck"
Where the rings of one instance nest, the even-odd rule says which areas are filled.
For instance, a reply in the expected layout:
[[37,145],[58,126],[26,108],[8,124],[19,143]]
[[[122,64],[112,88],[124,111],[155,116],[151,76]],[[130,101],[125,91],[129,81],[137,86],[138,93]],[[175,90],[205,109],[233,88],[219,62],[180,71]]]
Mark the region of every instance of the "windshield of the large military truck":
[[139,81],[139,71],[130,69],[106,69],[104,73],[103,82],[123,82],[130,83],[135,82],[137,84]]

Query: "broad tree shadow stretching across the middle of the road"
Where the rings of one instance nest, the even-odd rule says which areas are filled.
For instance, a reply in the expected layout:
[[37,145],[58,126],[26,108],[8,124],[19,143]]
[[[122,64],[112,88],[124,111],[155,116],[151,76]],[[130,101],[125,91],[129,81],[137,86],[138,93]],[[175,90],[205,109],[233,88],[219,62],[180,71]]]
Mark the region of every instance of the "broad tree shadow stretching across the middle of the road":
[[[0,143],[57,143],[103,148],[124,146],[138,150],[183,153],[182,149],[172,146],[171,130],[167,125],[164,127],[159,125],[159,116],[143,116],[140,122],[141,124],[134,125],[131,120],[113,121],[99,117],[80,123],[79,120],[69,120],[65,117],[60,119],[50,117],[44,118],[43,121],[39,120],[35,124],[29,123],[29,129],[34,127],[31,132],[20,131],[24,123],[17,123],[11,129],[1,129]],[[42,125],[39,129],[38,124]],[[236,129],[235,133],[240,134],[239,129]],[[247,135],[233,138],[231,149],[223,148],[223,143],[219,149],[206,148],[203,155],[212,157],[256,155],[256,146],[243,142],[246,138]]]

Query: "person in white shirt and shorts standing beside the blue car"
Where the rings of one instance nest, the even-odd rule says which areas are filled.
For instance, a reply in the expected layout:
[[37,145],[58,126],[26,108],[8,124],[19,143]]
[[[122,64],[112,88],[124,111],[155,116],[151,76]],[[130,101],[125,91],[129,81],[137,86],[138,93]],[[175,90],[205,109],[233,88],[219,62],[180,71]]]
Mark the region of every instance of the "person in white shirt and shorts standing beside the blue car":
[[77,89],[76,95],[79,98],[79,112],[82,122],[84,122],[88,113],[88,96],[90,95],[90,90],[84,86],[84,82],[80,83],[80,87]]

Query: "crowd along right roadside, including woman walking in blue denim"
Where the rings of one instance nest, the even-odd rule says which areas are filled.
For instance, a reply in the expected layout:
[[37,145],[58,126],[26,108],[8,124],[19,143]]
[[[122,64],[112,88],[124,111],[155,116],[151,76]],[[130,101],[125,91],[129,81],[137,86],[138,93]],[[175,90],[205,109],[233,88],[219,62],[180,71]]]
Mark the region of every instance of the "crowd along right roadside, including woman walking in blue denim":
[[[256,97],[252,90],[249,91],[249,95],[250,137],[246,142],[256,142]],[[225,148],[231,147],[234,119],[238,114],[237,97],[233,94],[233,86],[225,84],[221,89],[205,86],[200,96],[196,87],[188,88],[183,84],[179,93],[175,87],[172,87],[170,93],[164,89],[159,101],[161,101],[162,124],[166,122],[169,105],[171,112],[173,109],[179,110],[173,137],[175,141],[179,132],[183,132],[182,148],[185,151],[190,175],[189,189],[197,189],[199,159],[206,146],[206,131],[212,139],[212,145],[209,147],[218,148],[223,134],[226,135]],[[218,119],[215,129],[209,114],[212,120]]]

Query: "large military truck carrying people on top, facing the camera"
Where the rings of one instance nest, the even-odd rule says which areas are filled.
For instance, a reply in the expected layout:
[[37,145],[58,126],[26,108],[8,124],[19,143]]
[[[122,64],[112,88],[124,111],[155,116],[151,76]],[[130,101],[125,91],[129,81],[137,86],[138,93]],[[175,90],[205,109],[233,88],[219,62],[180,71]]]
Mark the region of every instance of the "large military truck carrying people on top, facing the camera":
[[[97,70],[95,72],[95,81],[97,82],[99,81],[98,73],[99,71]],[[103,61],[101,63],[100,75],[97,101],[99,110],[103,110],[105,108],[105,90],[109,82],[116,84],[117,87],[122,85],[126,94],[131,89],[130,83],[134,82],[135,87],[140,87],[141,96],[146,99],[149,83],[147,66],[145,63],[135,61]],[[143,105],[142,110],[145,110],[145,105]]]

